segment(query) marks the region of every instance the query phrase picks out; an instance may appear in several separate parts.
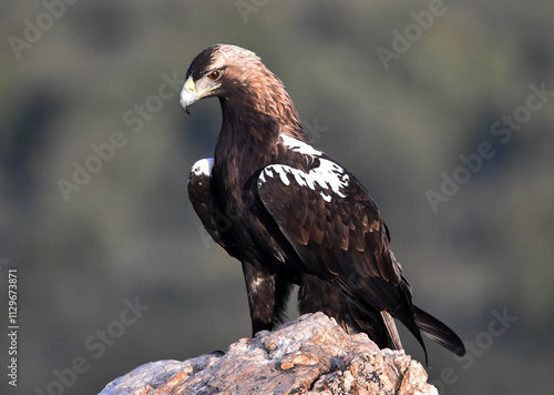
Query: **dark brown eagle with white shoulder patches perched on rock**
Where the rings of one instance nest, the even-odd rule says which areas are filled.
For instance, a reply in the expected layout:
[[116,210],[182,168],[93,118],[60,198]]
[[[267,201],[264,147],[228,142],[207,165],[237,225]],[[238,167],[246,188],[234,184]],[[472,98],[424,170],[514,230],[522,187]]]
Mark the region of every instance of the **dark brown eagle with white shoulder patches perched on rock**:
[[322,312],[348,333],[402,350],[394,318],[464,355],[460,337],[413,304],[390,234],[363,185],[308,139],[284,83],[254,52],[215,44],[191,63],[181,105],[216,97],[213,158],[197,161],[188,196],[204,227],[240,261],[253,336],[285,318],[297,284],[300,314]]

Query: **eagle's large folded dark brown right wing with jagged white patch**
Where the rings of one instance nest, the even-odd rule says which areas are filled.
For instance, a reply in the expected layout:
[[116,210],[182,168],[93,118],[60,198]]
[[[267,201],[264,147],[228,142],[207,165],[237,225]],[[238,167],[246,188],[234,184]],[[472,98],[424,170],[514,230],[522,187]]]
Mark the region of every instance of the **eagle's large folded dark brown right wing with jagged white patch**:
[[257,189],[280,231],[314,273],[338,286],[368,313],[384,311],[423,342],[414,323],[411,288],[389,247],[367,190],[330,158],[309,171],[275,164]]

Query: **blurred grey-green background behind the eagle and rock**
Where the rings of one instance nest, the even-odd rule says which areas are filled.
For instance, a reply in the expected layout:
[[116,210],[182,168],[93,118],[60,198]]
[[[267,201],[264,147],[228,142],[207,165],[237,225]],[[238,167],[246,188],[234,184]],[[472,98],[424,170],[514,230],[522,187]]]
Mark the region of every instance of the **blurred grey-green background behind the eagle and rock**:
[[186,195],[191,165],[212,155],[218,103],[188,117],[172,88],[217,42],[254,50],[281,78],[316,144],[379,204],[417,303],[469,344],[455,359],[428,342],[441,394],[550,393],[552,2],[0,10],[0,332],[9,269],[20,325],[17,388],[0,336],[2,394],[95,394],[141,364],[249,335],[239,264],[206,241]]

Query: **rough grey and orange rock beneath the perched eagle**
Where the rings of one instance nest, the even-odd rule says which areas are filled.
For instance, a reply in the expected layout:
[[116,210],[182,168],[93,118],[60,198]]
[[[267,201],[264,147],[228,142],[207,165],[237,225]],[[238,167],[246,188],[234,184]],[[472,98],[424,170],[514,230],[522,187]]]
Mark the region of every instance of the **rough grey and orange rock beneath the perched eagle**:
[[348,335],[322,313],[242,338],[226,354],[142,365],[107,384],[120,394],[437,394],[403,351]]

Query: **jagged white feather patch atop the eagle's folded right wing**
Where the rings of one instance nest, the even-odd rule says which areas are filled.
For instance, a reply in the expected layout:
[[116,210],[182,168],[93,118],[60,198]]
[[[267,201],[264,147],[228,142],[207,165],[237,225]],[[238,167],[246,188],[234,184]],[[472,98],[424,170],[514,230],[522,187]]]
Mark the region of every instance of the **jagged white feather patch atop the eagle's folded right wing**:
[[330,202],[334,195],[346,198],[342,190],[348,188],[350,180],[345,169],[327,159],[319,159],[319,166],[311,169],[308,173],[286,164],[268,165],[259,174],[258,183],[265,183],[266,176],[274,178],[275,174],[279,175],[285,185],[290,185],[289,175],[291,175],[298,185],[318,192],[326,202]]

